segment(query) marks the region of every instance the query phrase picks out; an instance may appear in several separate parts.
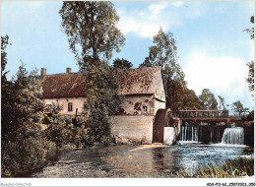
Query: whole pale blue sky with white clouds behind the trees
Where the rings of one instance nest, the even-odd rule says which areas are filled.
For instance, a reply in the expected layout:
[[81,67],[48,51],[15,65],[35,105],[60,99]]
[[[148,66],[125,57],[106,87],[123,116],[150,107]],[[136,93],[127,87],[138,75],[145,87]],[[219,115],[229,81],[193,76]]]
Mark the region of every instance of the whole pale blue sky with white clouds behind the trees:
[[[188,89],[197,95],[210,89],[230,104],[240,100],[252,109],[254,101],[245,78],[246,64],[254,60],[251,29],[254,1],[114,1],[120,17],[117,27],[126,41],[115,58],[125,58],[137,68],[149,55],[153,36],[160,28],[172,32],[178,63]],[[11,79],[21,65],[46,68],[47,74],[64,73],[79,67],[61,31],[58,14],[61,1],[4,1],[1,4],[1,35],[8,34],[8,64]]]

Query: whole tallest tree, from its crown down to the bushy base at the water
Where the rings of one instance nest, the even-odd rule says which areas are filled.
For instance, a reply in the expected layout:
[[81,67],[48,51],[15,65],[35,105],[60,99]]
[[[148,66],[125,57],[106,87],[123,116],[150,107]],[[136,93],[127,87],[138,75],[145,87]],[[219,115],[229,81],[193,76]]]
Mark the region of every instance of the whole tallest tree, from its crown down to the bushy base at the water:
[[115,114],[121,103],[117,81],[107,64],[113,50],[120,51],[124,44],[123,34],[115,27],[119,17],[113,4],[104,1],[63,2],[59,14],[80,71],[87,72],[85,123],[88,133],[82,143],[84,146],[107,144],[108,116]]

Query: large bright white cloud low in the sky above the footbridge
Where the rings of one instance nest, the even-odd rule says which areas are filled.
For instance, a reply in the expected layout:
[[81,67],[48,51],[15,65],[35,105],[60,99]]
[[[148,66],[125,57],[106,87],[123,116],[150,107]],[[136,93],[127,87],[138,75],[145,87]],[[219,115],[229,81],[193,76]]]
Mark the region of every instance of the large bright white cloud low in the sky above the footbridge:
[[247,76],[247,67],[239,58],[212,57],[204,52],[190,56],[184,68],[188,87],[196,94],[203,89],[213,89],[224,93],[242,94]]

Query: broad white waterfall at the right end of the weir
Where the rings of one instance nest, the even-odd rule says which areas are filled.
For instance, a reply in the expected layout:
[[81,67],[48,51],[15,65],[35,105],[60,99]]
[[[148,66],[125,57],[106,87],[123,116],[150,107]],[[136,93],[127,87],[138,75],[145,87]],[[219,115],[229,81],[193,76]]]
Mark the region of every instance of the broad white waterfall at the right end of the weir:
[[232,127],[224,129],[222,144],[243,145],[244,130],[242,127]]

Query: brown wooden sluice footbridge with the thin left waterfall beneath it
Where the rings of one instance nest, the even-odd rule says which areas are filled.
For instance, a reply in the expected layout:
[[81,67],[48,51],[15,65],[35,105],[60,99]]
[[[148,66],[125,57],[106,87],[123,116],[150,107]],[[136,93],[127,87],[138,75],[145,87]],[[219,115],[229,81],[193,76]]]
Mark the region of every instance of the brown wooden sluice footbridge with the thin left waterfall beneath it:
[[173,115],[181,121],[179,141],[204,144],[222,143],[224,129],[230,122],[241,121],[230,117],[228,110],[180,110]]

